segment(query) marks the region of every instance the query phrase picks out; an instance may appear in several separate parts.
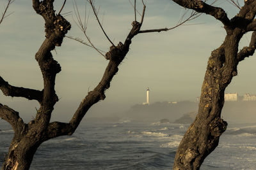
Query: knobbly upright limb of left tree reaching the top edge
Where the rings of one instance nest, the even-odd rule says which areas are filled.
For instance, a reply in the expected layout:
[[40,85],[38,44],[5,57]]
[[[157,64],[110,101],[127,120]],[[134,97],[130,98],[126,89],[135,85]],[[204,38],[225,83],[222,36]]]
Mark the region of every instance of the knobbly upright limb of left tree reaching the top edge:
[[53,7],[53,0],[33,0],[33,8],[36,13],[45,20],[45,40],[35,55],[44,78],[44,93],[40,109],[36,113],[35,124],[40,131],[47,128],[51,119],[54,104],[58,96],[54,90],[56,74],[61,71],[60,64],[53,59],[51,50],[61,46],[65,34],[71,28],[70,23],[61,15],[56,15]]

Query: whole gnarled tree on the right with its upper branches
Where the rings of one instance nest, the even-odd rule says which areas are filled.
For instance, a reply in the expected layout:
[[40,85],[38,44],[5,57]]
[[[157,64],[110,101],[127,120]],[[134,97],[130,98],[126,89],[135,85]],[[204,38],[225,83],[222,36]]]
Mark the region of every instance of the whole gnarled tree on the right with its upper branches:
[[[209,57],[198,115],[182,138],[173,165],[173,169],[199,169],[205,157],[218,146],[220,136],[227,128],[227,122],[221,118],[225,89],[237,75],[239,62],[255,52],[256,1],[246,0],[241,8],[235,1],[230,1],[240,9],[231,19],[222,8],[204,1],[173,1],[184,8],[211,15],[224,25],[227,32],[224,42]],[[250,45],[239,51],[239,41],[250,31],[253,31]]]

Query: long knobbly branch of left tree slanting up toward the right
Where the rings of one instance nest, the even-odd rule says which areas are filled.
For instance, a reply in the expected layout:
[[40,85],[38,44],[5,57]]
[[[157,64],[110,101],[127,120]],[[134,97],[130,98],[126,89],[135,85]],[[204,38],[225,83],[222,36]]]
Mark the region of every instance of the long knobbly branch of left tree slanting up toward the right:
[[95,87],[95,89],[93,89],[93,91],[88,92],[88,95],[80,103],[76,113],[74,113],[68,124],[61,122],[52,122],[49,124],[47,130],[47,134],[49,134],[48,138],[55,138],[65,134],[73,134],[90,107],[100,100],[105,99],[106,96],[104,93],[107,89],[109,89],[113,76],[115,76],[115,74],[118,72],[118,66],[122,60],[124,60],[125,55],[129,51],[131,39],[138,34],[140,27],[141,24],[139,22],[132,22],[132,29],[125,39],[124,44],[120,42],[117,46],[110,47],[109,52],[106,53],[106,59],[109,60],[109,63],[106,67],[104,75],[102,76],[102,79],[100,80],[100,83],[97,85],[97,87]]

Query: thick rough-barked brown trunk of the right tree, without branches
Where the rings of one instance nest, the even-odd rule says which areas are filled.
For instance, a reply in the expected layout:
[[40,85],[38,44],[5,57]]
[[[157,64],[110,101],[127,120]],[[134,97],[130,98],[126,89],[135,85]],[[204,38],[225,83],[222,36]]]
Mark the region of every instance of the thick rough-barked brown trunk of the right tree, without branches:
[[223,45],[209,57],[201,89],[198,115],[182,138],[173,169],[199,169],[219,143],[227,122],[221,118],[225,89],[237,74],[239,32],[226,36]]

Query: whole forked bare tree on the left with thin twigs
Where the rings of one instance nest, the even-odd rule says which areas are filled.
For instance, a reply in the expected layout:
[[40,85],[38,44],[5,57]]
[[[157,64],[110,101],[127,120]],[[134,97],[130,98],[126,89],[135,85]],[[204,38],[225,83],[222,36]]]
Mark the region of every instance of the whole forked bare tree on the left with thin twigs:
[[[142,1],[144,5],[141,20],[138,22],[135,17],[135,20],[132,22],[132,29],[127,38],[125,38],[124,43],[120,42],[118,45],[114,45],[109,39],[112,46],[110,47],[109,52],[104,55],[109,62],[97,87],[88,92],[68,123],[50,122],[51,113],[54,110],[54,104],[58,102],[58,96],[55,92],[55,78],[56,74],[61,71],[60,64],[54,60],[51,51],[54,50],[56,46],[61,46],[63,38],[65,37],[65,34],[67,34],[68,30],[70,30],[71,25],[63,16],[60,15],[60,12],[65,5],[65,1],[58,14],[54,11],[54,0],[33,0],[32,2],[36,13],[41,15],[45,20],[45,40],[40,46],[38,52],[35,54],[35,59],[40,66],[44,79],[44,89],[35,90],[24,87],[15,87],[3,80],[0,76],[0,89],[5,96],[24,97],[29,100],[36,100],[40,104],[40,108],[36,111],[35,120],[31,120],[28,124],[24,123],[22,118],[19,117],[19,113],[17,111],[0,104],[0,117],[9,122],[14,130],[12,143],[10,144],[8,155],[6,155],[3,163],[3,170],[29,169],[31,161],[33,160],[33,155],[44,141],[58,136],[72,135],[76,131],[77,126],[90,107],[100,100],[105,99],[105,91],[109,89],[113,76],[118,72],[118,66],[124,59],[127,52],[129,52],[129,47],[132,42],[131,40],[134,36],[140,33],[168,31],[174,28],[141,31],[140,29],[143,24],[146,9],[146,6]],[[93,1],[89,2],[92,5],[95,16],[97,17]],[[134,11],[136,13],[135,6],[136,5],[134,5]],[[188,20],[195,16],[196,15],[194,13],[194,15],[191,15]],[[97,20],[99,21],[99,18],[97,18]],[[183,24],[184,22],[181,23]],[[82,31],[84,29],[84,34],[86,34],[83,24],[80,26]],[[100,25],[100,27],[102,27],[102,25]],[[102,31],[104,31],[104,29],[102,29]]]

